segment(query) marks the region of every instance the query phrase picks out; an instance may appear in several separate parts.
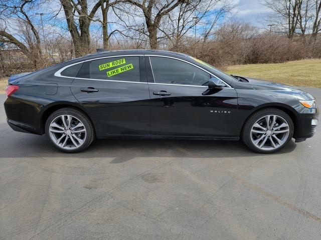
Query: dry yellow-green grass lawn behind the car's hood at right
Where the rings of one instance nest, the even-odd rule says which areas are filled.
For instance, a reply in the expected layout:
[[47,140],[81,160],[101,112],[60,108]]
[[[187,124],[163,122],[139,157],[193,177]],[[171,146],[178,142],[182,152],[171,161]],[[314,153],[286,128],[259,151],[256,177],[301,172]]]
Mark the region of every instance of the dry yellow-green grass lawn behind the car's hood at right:
[[321,59],[306,59],[272,64],[228,66],[229,74],[250,76],[294,86],[321,87]]

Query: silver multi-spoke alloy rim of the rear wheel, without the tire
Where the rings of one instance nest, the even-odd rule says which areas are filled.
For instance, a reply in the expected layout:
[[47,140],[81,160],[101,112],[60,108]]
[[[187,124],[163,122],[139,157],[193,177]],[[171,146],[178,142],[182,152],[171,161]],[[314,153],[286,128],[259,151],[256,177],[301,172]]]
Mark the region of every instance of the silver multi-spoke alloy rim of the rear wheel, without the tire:
[[50,122],[49,135],[57,146],[75,149],[85,142],[86,128],[75,116],[59,115]]

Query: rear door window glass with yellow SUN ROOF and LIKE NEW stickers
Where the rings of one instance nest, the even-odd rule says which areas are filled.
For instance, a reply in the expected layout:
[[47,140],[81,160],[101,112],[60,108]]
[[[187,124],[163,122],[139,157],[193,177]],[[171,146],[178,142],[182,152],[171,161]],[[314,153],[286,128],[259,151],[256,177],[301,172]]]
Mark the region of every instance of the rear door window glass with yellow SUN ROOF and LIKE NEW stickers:
[[140,81],[139,56],[119,56],[93,60],[90,78],[120,81]]

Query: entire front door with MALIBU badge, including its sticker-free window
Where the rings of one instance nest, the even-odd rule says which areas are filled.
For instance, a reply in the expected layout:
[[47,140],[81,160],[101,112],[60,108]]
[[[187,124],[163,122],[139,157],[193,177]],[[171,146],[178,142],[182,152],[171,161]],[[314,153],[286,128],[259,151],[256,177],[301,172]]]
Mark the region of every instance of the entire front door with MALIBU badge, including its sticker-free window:
[[209,89],[207,83],[215,76],[183,59],[156,55],[145,59],[152,135],[236,135],[234,88],[226,85]]

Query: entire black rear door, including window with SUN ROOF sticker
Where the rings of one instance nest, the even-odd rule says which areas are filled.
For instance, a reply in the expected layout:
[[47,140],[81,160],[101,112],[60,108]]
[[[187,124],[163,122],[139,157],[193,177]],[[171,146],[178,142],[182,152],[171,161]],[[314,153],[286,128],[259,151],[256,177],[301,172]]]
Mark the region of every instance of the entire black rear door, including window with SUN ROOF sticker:
[[149,134],[149,91],[142,55],[85,61],[71,90],[90,113],[98,136]]

